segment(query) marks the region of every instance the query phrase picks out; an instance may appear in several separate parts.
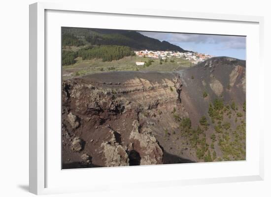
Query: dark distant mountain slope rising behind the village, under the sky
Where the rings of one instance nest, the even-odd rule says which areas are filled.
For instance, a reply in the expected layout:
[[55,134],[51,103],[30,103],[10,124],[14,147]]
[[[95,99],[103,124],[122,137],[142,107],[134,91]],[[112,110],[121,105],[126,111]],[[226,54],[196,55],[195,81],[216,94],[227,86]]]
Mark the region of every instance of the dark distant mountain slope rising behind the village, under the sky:
[[[91,45],[120,45],[127,46],[133,50],[160,50],[187,52],[179,46],[166,41],[159,41],[144,36],[136,31],[115,29],[91,29],[91,28],[62,28],[63,43],[72,43],[77,46],[83,43]],[[71,41],[75,36],[78,41]],[[68,41],[66,41],[68,39]],[[70,45],[71,46],[71,45]]]

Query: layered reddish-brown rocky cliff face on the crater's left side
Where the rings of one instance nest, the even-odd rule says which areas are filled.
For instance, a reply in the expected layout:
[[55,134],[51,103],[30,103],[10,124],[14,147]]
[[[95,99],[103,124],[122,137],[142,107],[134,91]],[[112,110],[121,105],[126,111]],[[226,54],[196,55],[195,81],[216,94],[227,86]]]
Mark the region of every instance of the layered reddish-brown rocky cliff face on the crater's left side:
[[[178,76],[97,75],[63,82],[64,163],[87,166],[80,155],[88,154],[95,166],[163,164],[164,148],[157,138],[163,139],[169,127],[178,127],[173,109],[178,118],[188,115],[180,103]],[[74,139],[80,140],[76,148]]]

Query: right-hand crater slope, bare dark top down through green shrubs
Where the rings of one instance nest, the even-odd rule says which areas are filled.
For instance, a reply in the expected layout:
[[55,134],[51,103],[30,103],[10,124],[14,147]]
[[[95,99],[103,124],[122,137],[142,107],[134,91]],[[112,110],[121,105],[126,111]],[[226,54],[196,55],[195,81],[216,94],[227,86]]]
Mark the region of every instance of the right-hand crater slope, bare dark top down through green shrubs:
[[[245,159],[245,70],[244,60],[213,57],[179,72],[182,104],[192,127],[206,125],[204,138],[214,161]],[[198,158],[206,154],[198,151]]]

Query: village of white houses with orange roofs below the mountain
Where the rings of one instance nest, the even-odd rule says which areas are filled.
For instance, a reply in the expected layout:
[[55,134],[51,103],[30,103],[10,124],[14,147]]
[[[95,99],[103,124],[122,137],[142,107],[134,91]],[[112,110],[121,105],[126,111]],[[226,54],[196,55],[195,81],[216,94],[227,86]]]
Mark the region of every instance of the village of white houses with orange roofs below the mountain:
[[[207,54],[201,54],[197,52],[181,53],[181,52],[173,52],[173,51],[149,51],[149,50],[135,51],[135,55],[139,57],[151,57],[155,59],[161,58],[163,60],[168,59],[168,58],[170,59],[172,57],[185,58],[194,64],[213,57]],[[181,61],[179,61],[178,63],[181,63]],[[136,62],[136,65],[144,65],[144,62]]]

